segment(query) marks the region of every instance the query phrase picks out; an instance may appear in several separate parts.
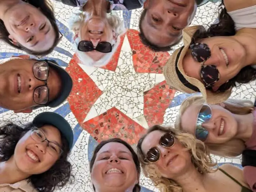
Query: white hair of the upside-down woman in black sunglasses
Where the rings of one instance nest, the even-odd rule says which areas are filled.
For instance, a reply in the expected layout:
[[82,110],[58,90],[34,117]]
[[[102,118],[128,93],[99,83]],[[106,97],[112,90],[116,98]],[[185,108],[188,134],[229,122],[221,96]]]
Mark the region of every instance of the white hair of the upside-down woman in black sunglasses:
[[[75,34],[78,34],[81,24],[86,20],[87,17],[88,14],[86,12],[79,11],[78,13],[75,13],[69,21],[70,30],[73,31]],[[73,45],[81,61],[81,64],[96,67],[104,66],[111,60],[113,54],[116,52],[116,49],[120,43],[120,36],[126,32],[126,28],[124,27],[124,22],[118,17],[117,14],[107,14],[107,20],[112,27],[113,32],[116,34],[116,39],[112,39],[112,41],[110,42],[111,45],[113,45],[112,51],[110,53],[106,53],[100,60],[95,61],[91,57],[89,57],[86,52],[81,52],[77,49],[80,42],[80,37],[78,36],[74,40]]]

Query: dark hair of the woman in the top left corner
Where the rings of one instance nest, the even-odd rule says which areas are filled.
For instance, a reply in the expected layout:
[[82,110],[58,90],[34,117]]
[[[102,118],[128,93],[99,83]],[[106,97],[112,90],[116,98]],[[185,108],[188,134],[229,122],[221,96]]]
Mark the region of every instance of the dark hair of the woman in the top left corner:
[[[22,0],[22,1],[25,1],[25,0]],[[56,23],[55,17],[54,17],[53,7],[50,4],[49,0],[27,0],[27,2],[37,8],[40,8],[40,11],[42,11],[42,13],[49,19],[50,23],[52,24],[53,30],[55,31],[55,39],[54,39],[53,46],[46,51],[35,52],[26,47],[23,47],[21,44],[17,44],[17,45],[13,44],[12,41],[9,39],[10,33],[7,31],[7,29],[4,25],[4,22],[2,20],[0,20],[0,39],[2,41],[4,41],[5,43],[9,44],[10,46],[12,46],[16,49],[23,50],[23,51],[27,52],[28,54],[37,55],[37,56],[47,55],[47,54],[51,53],[53,51],[53,49],[57,46],[57,44],[59,43],[59,38],[60,38],[59,28],[57,26],[57,23]]]

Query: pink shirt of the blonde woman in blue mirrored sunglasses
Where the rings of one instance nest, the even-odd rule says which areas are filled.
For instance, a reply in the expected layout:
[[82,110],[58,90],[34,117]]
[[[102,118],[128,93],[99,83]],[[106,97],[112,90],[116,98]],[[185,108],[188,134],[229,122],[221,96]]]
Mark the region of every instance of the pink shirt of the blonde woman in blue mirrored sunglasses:
[[[246,149],[256,150],[256,110],[253,112],[254,122],[251,138],[245,143]],[[252,191],[256,192],[256,167],[245,166],[244,178],[248,185],[251,187]]]

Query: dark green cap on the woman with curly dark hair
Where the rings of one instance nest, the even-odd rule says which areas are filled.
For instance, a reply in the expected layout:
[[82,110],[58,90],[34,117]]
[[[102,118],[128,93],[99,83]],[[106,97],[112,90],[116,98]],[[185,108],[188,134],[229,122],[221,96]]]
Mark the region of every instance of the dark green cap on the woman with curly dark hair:
[[42,127],[44,124],[50,124],[59,129],[60,133],[68,141],[69,150],[71,150],[73,146],[74,134],[71,126],[62,116],[54,112],[43,112],[34,118],[33,124],[38,127]]

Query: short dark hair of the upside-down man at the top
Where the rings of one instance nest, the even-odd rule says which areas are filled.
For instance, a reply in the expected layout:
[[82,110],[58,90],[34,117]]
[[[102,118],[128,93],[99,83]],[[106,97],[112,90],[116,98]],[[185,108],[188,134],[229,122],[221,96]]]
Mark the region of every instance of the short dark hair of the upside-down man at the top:
[[139,20],[139,30],[140,30],[140,33],[139,33],[139,37],[140,37],[140,41],[148,48],[150,48],[151,50],[155,51],[155,52],[165,52],[165,51],[169,51],[169,50],[172,50],[172,47],[176,46],[178,43],[180,43],[180,41],[170,45],[170,46],[166,46],[166,47],[159,47],[153,43],[151,43],[146,37],[145,37],[145,34],[142,30],[142,21],[144,20],[145,18],[145,15],[146,15],[146,12],[147,12],[148,9],[144,9],[142,11],[142,14],[140,15],[140,20]]

